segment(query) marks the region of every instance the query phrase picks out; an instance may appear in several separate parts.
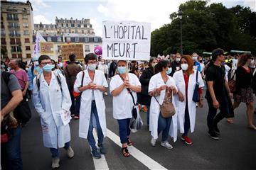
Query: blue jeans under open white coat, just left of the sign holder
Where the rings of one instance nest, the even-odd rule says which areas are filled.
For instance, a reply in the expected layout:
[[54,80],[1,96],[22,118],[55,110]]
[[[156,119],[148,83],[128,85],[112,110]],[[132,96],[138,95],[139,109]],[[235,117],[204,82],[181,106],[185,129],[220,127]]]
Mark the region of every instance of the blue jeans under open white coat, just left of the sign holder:
[[103,136],[103,133],[102,133],[102,128],[100,127],[100,120],[99,120],[99,115],[97,114],[97,108],[96,108],[95,101],[92,101],[92,108],[91,108],[91,115],[90,115],[90,125],[89,125],[87,140],[90,144],[90,147],[92,149],[96,149],[97,147],[95,146],[96,145],[95,138],[93,137],[93,134],[92,134],[92,130],[93,130],[92,115],[95,115],[95,120],[96,120],[96,125],[97,125],[98,145],[102,145],[104,136]]

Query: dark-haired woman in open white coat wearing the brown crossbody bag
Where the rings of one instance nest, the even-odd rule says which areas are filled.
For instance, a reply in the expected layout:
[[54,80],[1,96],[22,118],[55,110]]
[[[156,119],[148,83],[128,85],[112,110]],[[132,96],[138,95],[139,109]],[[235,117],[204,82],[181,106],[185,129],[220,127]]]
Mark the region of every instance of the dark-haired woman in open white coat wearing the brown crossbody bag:
[[[173,148],[169,142],[169,135],[176,140],[177,125],[176,114],[171,118],[163,118],[160,113],[160,105],[164,102],[166,90],[172,91],[172,95],[177,93],[177,87],[172,77],[168,76],[171,73],[171,63],[162,60],[156,64],[156,69],[159,71],[151,77],[149,81],[149,95],[152,96],[149,113],[149,131],[151,131],[151,145],[156,145],[156,139],[162,132],[161,146],[167,149]],[[174,103],[174,97],[172,96]],[[174,103],[175,108],[175,103]]]

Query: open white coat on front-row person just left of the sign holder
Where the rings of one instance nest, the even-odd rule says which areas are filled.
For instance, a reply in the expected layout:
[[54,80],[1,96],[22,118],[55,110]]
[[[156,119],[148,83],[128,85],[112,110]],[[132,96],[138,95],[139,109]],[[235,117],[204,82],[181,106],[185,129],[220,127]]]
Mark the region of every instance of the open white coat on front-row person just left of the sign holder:
[[[89,77],[87,69],[82,72],[85,72],[85,77],[83,79],[82,86],[86,86],[92,80]],[[74,84],[74,89],[76,92],[80,92],[78,91],[78,88],[81,86],[82,72],[78,73],[77,79]],[[95,77],[92,82],[100,86],[108,87],[107,80],[105,78],[104,73],[99,70],[95,70]],[[97,113],[99,116],[100,127],[102,128],[102,133],[104,137],[106,137],[107,135],[106,114],[105,114],[106,106],[105,106],[105,101],[102,95],[102,91],[100,91],[99,89],[96,89],[96,90],[87,89],[85,91],[82,91],[82,94],[81,94],[80,120],[79,120],[79,137],[82,137],[85,139],[87,139],[89,125],[90,125],[90,115],[91,115],[91,108],[92,108],[92,91],[95,97],[95,103],[96,103]]]

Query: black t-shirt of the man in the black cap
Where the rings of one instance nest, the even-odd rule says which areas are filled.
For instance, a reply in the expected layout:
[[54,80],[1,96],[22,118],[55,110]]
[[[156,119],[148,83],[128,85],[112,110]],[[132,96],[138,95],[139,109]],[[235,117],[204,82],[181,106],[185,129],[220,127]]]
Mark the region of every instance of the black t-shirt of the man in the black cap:
[[[206,84],[207,81],[213,81],[213,91],[217,101],[228,102],[227,91],[225,89],[225,67],[219,67],[212,65],[208,68],[206,72]],[[212,100],[210,92],[206,91],[206,98]]]

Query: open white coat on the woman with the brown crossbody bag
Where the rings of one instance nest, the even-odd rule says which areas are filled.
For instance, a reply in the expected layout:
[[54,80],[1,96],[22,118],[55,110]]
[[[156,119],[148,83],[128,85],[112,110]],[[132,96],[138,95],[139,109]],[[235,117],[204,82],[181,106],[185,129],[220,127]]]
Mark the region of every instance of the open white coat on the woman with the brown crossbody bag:
[[[175,86],[175,81],[172,77],[168,76],[168,81],[166,82],[167,86]],[[156,88],[159,88],[160,86],[163,86],[164,80],[161,77],[161,73],[155,74],[153,77],[151,77],[149,81],[149,92],[153,91]],[[157,128],[158,128],[158,120],[159,120],[159,114],[160,114],[160,106],[164,102],[164,96],[165,96],[166,91],[162,90],[161,94],[159,96],[156,96],[156,99],[154,97],[151,98],[151,103],[150,103],[150,113],[149,113],[149,131],[151,131],[151,136],[154,139],[158,138],[158,133],[157,133]],[[172,103],[174,103],[174,96],[172,96]],[[174,103],[174,108],[176,110],[176,106]],[[169,130],[169,135],[173,137],[174,142],[177,140],[177,113],[172,116],[171,119],[171,127]]]

